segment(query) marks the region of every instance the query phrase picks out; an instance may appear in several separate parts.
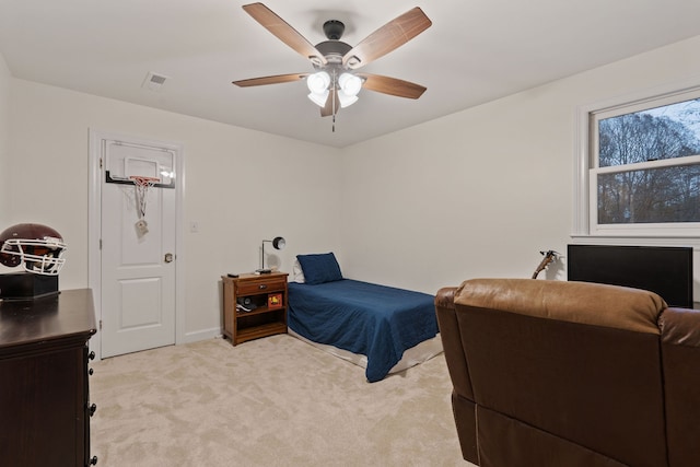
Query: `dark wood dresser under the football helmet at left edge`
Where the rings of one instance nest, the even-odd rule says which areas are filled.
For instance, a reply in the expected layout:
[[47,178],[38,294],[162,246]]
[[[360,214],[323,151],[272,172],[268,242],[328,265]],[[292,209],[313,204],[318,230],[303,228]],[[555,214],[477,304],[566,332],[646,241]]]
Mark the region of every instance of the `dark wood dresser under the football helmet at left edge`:
[[0,302],[0,465],[89,466],[90,289]]

